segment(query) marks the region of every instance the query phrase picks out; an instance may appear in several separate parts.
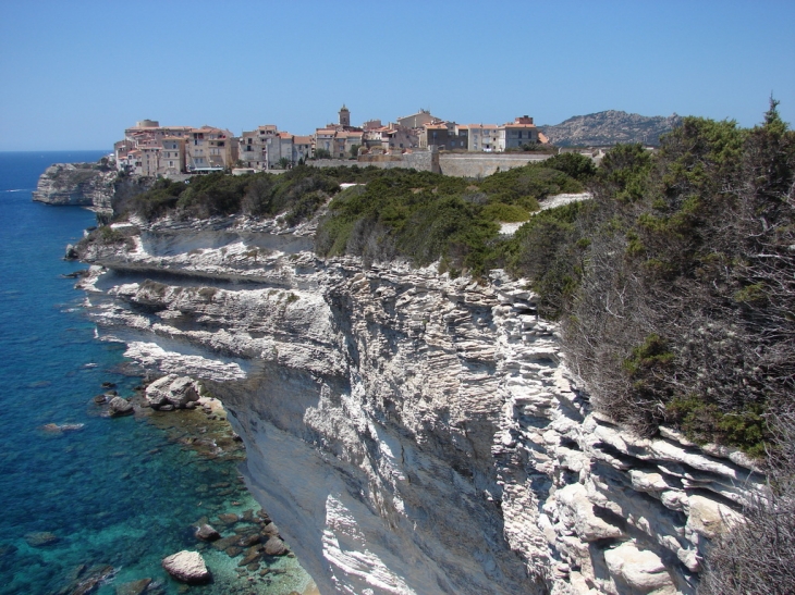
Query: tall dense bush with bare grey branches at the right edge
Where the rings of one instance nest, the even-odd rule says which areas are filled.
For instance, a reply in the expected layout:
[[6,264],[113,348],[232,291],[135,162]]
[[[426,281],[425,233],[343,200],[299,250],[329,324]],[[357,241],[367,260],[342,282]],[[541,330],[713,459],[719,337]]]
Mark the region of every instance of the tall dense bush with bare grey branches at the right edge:
[[[539,260],[587,244],[560,312],[597,409],[641,433],[669,423],[765,453],[766,417],[795,393],[794,179],[795,136],[774,106],[753,131],[688,117],[655,156],[614,148],[573,228],[536,232]],[[549,266],[526,251],[516,262],[543,298]]]

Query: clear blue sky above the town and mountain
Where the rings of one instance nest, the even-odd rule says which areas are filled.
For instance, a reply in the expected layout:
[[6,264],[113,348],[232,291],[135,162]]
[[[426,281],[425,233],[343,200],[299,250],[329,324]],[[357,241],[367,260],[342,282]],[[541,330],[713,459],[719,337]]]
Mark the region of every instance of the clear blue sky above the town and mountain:
[[795,123],[795,2],[0,1],[0,150],[110,149],[143,119],[294,134],[429,109]]

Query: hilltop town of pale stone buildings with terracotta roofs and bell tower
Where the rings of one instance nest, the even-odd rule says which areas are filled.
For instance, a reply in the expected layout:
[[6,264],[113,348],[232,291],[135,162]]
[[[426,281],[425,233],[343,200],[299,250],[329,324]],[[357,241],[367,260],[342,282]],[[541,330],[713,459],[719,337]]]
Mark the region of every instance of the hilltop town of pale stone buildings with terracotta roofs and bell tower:
[[119,170],[143,176],[178,176],[215,171],[286,170],[314,159],[363,159],[377,156],[400,159],[414,152],[456,151],[500,153],[523,151],[547,144],[533,117],[497,124],[457,124],[428,110],[399,117],[386,125],[370,120],[351,125],[343,104],[338,122],[311,135],[294,135],[265,124],[235,136],[213,126],[161,126],[143,120],[124,131],[113,146]]

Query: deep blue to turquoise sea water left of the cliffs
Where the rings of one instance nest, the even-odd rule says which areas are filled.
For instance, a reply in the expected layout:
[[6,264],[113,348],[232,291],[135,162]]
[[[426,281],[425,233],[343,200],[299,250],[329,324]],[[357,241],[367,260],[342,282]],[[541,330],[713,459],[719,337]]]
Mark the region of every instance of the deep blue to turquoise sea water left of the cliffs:
[[[240,555],[193,535],[200,519],[224,536],[256,526],[218,520],[259,510],[225,424],[198,410],[109,419],[93,400],[102,383],[131,397],[142,380],[123,345],[95,338],[64,277],[85,268],[62,256],[94,214],[33,202],[30,191],[49,164],[103,153],[0,152],[0,594],[69,594],[94,581],[91,592],[111,595],[142,579],[152,581],[147,593],[308,592],[293,558],[241,569]],[[168,577],[160,561],[181,549],[203,549],[211,584],[186,590]]]

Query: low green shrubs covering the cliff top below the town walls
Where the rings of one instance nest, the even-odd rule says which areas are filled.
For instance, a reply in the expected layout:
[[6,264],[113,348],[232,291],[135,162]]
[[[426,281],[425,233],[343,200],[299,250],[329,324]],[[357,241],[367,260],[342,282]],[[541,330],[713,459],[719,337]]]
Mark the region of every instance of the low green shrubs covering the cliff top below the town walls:
[[[135,213],[148,221],[242,213],[296,225],[333,197],[317,234],[321,256],[401,257],[418,265],[441,260],[443,269],[478,275],[505,265],[516,251],[500,237],[498,222],[527,221],[539,200],[582,191],[594,172],[589,159],[574,153],[479,181],[403,169],[297,166],[279,175],[196,176],[189,184],[159,179],[114,209],[118,218]],[[341,191],[344,183],[360,185]]]

